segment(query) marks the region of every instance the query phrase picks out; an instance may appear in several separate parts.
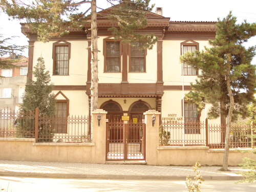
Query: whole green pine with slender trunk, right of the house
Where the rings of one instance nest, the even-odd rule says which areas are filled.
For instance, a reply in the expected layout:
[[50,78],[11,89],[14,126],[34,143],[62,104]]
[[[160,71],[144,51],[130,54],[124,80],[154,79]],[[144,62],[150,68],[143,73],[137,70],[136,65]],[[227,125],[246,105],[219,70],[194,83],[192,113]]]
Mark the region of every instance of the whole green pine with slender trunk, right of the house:
[[225,152],[223,169],[227,170],[229,152],[229,129],[231,120],[238,115],[248,115],[247,106],[253,101],[255,89],[255,66],[251,60],[256,47],[246,49],[243,43],[256,35],[256,24],[236,24],[237,18],[231,12],[222,20],[218,19],[215,40],[209,40],[211,48],[188,53],[181,62],[193,66],[201,73],[193,92],[187,95],[191,100],[211,103],[209,118],[220,115],[225,118]]

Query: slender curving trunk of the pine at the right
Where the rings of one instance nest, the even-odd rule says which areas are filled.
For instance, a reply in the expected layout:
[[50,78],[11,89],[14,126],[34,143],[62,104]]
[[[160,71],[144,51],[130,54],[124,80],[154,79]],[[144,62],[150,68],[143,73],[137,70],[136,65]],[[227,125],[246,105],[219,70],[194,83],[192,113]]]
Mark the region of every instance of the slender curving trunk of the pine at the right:
[[229,104],[229,109],[228,109],[228,115],[227,115],[227,124],[226,124],[226,136],[225,136],[225,151],[224,151],[224,157],[223,157],[223,165],[222,169],[227,170],[228,167],[228,154],[229,154],[229,142],[230,142],[230,125],[231,125],[231,119],[232,119],[232,113],[234,109],[234,98],[233,98],[233,93],[230,87],[230,70],[231,70],[231,55],[228,54],[228,59],[227,59],[227,91],[230,99],[230,104]]

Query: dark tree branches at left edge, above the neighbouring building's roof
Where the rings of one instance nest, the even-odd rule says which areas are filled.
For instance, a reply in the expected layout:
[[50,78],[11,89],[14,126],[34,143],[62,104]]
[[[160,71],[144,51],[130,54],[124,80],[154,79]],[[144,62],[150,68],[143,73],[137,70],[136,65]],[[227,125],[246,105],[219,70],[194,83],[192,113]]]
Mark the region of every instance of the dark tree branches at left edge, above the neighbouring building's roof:
[[3,35],[0,34],[0,69],[11,69],[15,67],[12,63],[18,61],[18,59],[3,59],[2,57],[14,54],[20,55],[26,48],[25,46],[11,45],[8,43],[11,38],[4,38]]

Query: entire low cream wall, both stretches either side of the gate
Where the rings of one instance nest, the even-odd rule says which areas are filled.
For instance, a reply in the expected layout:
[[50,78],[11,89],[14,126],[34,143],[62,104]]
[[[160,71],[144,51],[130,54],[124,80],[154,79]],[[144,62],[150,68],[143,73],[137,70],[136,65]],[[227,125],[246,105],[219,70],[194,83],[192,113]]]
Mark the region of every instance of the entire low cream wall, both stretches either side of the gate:
[[[95,143],[35,143],[35,139],[0,138],[0,159],[46,162],[105,163],[104,150]],[[246,151],[246,150],[242,150]],[[146,154],[148,165],[222,165],[224,150],[209,150],[205,146],[159,146]],[[151,158],[151,157],[156,158]],[[237,166],[242,158],[256,160],[256,155],[230,150],[229,165]]]

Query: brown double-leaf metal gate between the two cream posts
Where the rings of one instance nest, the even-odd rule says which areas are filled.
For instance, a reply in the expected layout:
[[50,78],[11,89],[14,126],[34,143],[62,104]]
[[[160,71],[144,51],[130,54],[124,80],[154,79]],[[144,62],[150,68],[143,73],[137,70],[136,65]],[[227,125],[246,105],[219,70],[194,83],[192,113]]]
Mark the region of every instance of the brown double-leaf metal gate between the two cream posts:
[[106,123],[106,160],[145,160],[145,124]]

